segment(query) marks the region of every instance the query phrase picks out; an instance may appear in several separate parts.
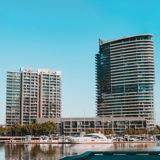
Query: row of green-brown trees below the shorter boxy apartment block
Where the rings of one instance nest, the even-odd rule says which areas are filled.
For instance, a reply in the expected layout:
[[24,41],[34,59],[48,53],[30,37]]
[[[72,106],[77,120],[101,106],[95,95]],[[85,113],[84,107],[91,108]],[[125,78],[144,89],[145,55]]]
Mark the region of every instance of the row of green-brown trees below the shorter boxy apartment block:
[[42,124],[28,124],[21,126],[14,124],[11,127],[0,127],[0,135],[5,136],[24,136],[24,135],[49,135],[57,133],[57,125],[53,122],[45,122]]

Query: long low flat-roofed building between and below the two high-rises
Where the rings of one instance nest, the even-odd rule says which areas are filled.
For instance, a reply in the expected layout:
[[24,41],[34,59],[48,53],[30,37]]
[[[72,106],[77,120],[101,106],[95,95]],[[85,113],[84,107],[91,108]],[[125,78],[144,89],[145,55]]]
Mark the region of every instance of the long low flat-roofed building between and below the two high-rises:
[[146,120],[142,117],[94,117],[94,118],[39,118],[37,123],[53,121],[59,123],[62,135],[74,135],[86,132],[87,130],[105,131],[112,130],[114,133],[121,133],[126,128],[142,129],[146,127]]

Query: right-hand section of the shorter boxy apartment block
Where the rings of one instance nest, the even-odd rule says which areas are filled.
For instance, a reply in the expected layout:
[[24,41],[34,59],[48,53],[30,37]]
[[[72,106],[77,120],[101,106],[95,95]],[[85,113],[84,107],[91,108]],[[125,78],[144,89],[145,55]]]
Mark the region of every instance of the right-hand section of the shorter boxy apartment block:
[[61,116],[61,76],[59,72],[39,71],[40,117]]

